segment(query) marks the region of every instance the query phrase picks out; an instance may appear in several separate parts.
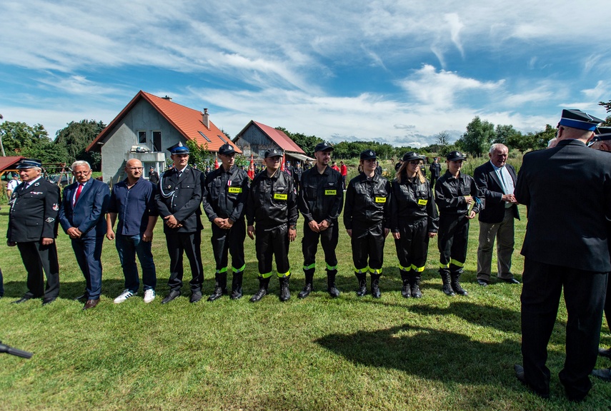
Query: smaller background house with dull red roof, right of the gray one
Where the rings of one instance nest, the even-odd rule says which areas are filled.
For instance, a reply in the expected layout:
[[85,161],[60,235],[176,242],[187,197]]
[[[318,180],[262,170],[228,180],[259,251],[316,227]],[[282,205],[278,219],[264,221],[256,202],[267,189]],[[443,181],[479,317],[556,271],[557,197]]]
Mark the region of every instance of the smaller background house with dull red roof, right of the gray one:
[[242,131],[237,133],[233,142],[242,149],[244,156],[249,158],[263,159],[268,148],[277,148],[284,152],[287,161],[315,161],[314,158],[306,156],[305,151],[292,141],[284,131],[266,126],[258,121],[251,120]]

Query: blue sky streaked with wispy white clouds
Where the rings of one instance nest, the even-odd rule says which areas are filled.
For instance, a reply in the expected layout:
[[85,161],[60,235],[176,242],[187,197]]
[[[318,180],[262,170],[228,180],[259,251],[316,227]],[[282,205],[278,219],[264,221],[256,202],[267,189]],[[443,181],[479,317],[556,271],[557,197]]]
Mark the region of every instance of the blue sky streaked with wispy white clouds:
[[611,1],[3,1],[0,113],[54,136],[139,90],[329,141],[426,146],[473,117],[604,118]]

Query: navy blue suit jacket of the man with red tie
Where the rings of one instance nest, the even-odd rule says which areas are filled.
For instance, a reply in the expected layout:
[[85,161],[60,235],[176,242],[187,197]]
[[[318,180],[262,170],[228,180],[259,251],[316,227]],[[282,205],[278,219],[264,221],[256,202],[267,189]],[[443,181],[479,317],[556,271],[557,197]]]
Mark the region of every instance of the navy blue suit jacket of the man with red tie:
[[84,237],[99,237],[106,234],[106,210],[110,201],[108,184],[89,178],[81,191],[79,201],[72,209],[72,197],[79,183],[64,188],[64,200],[59,208],[59,223],[66,232],[70,227],[78,228]]

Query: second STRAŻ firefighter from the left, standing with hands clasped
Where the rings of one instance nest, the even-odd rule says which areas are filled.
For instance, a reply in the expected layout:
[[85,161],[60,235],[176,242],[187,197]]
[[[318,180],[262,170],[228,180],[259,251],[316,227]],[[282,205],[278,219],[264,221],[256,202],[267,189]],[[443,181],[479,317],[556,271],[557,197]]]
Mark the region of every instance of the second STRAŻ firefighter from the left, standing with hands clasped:
[[[255,249],[259,260],[259,291],[250,299],[253,303],[267,295],[272,276],[272,257],[280,281],[280,301],[291,298],[289,292],[289,243],[297,235],[297,193],[293,178],[280,170],[282,153],[276,148],[265,151],[267,166],[255,176],[248,194],[246,220],[251,239],[257,235]],[[254,223],[257,223],[255,231]]]

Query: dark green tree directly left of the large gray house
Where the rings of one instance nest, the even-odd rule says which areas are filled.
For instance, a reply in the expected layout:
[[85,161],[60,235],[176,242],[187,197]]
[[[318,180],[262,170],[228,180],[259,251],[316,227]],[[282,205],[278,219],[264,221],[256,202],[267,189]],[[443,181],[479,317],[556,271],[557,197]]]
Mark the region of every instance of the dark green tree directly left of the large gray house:
[[66,162],[73,163],[76,160],[88,161],[93,170],[99,170],[101,153],[87,153],[85,148],[89,146],[91,141],[94,141],[105,127],[106,125],[101,121],[71,121],[66,127],[56,133],[55,144],[63,147],[66,153],[68,153]]

